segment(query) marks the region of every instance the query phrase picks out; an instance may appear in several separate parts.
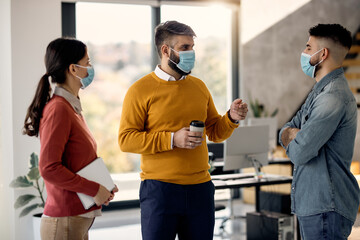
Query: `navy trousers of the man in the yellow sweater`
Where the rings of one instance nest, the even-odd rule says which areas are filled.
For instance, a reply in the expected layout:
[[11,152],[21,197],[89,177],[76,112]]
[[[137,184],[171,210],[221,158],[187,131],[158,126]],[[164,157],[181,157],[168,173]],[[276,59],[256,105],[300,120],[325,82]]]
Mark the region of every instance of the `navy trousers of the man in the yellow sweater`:
[[214,184],[178,185],[144,180],[140,185],[143,240],[212,240]]

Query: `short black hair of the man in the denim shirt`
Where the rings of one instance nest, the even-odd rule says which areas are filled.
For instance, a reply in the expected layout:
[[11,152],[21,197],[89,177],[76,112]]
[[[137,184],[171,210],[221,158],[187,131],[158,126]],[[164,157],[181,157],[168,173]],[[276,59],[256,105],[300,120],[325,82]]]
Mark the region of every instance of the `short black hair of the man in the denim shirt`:
[[309,29],[310,36],[331,39],[350,49],[352,44],[351,33],[340,24],[318,24]]

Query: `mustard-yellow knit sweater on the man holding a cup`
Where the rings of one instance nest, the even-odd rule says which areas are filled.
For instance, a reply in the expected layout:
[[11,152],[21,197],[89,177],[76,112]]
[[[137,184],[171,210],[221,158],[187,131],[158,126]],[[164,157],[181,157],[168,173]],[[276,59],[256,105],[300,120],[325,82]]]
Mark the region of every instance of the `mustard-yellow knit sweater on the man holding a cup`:
[[[205,84],[187,76],[164,81],[154,72],[128,90],[121,115],[119,145],[122,151],[141,154],[141,179],[176,184],[210,180],[206,140],[195,149],[171,149],[171,133],[192,120],[205,123],[209,140],[224,141],[238,126],[221,116]],[[204,136],[205,139],[205,136]]]

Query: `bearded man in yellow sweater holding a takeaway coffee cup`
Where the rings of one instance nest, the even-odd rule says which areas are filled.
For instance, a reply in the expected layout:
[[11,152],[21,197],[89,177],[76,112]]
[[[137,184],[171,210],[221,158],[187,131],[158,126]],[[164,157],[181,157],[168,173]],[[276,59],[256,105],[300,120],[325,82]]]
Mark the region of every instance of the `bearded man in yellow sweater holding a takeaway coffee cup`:
[[212,240],[214,185],[208,150],[192,120],[205,123],[209,140],[231,136],[247,114],[236,99],[218,114],[209,90],[189,75],[195,62],[194,31],[168,21],[157,26],[155,43],[161,64],[128,90],[121,116],[122,151],[141,154],[141,230],[144,240]]

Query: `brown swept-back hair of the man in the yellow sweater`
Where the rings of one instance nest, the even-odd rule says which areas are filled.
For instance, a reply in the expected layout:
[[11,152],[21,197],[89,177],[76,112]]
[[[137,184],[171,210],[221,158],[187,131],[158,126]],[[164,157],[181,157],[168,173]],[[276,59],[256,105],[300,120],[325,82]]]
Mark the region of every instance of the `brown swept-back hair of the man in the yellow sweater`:
[[159,56],[161,57],[161,46],[166,43],[169,44],[171,38],[175,35],[185,35],[196,37],[195,32],[190,26],[179,23],[177,21],[167,21],[160,23],[155,28],[155,45]]

